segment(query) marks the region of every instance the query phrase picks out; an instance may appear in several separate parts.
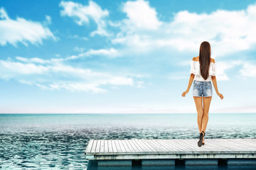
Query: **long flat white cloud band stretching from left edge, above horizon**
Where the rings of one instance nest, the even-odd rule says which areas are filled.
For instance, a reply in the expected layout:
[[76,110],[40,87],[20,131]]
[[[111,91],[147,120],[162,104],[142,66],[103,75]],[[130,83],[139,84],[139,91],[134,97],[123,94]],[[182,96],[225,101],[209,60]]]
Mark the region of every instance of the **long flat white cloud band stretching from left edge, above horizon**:
[[[38,86],[42,89],[66,89],[102,93],[102,86],[142,87],[143,81],[134,81],[131,75],[119,76],[105,72],[93,72],[91,69],[75,68],[63,64],[60,60],[26,59],[16,57],[18,61],[0,60],[0,78],[16,79],[20,83]],[[21,61],[21,62],[19,62]]]

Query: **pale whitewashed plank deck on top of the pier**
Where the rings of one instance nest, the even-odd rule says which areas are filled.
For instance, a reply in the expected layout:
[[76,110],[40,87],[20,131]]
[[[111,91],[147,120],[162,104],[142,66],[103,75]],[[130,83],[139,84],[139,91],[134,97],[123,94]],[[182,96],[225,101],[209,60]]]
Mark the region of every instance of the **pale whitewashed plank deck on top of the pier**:
[[[211,139],[206,140],[206,145],[202,147],[197,146],[197,141],[198,139],[90,140],[85,154],[88,157],[97,153],[94,154],[97,157],[100,155],[104,157],[107,154],[140,154],[143,157],[146,157],[147,154],[169,154],[170,157],[173,157],[171,154],[176,154],[177,158],[204,158],[204,155],[208,154],[221,155],[223,158],[233,158],[232,155],[234,158],[256,158],[256,139]],[[196,154],[202,154],[202,157],[198,157]],[[141,157],[140,155],[138,157]],[[149,158],[151,159],[151,156]]]

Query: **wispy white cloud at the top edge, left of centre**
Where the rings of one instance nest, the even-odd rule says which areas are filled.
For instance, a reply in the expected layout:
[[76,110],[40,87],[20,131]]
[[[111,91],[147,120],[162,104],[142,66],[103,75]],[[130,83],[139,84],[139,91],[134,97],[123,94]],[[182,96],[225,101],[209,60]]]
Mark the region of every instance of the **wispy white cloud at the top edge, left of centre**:
[[88,6],[83,6],[73,1],[61,1],[60,6],[64,8],[60,11],[60,15],[74,18],[75,23],[78,23],[79,26],[90,23],[90,18],[95,21],[97,30],[90,33],[90,36],[94,36],[95,34],[110,35],[106,31],[107,24],[104,21],[104,18],[109,15],[109,12],[107,9],[102,10],[94,1],[90,0]]

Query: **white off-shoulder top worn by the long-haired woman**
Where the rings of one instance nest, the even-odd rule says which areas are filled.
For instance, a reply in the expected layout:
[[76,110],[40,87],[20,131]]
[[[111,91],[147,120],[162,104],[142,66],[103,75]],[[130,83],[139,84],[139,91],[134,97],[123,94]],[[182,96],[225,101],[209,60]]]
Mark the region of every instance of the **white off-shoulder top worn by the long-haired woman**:
[[199,61],[191,61],[191,71],[190,74],[195,74],[194,80],[196,81],[211,81],[211,76],[215,76],[215,63],[210,62],[210,68],[209,68],[209,76],[205,80],[201,76],[200,72],[200,62]]

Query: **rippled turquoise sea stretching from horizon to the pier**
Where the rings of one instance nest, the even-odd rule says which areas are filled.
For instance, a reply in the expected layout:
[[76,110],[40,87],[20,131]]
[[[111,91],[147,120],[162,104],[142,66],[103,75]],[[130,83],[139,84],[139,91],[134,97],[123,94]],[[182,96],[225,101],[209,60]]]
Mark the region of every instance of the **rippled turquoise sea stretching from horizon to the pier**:
[[[183,113],[0,114],[0,169],[87,169],[90,139],[197,139],[196,119]],[[213,138],[256,138],[256,113],[209,114],[205,139]]]

